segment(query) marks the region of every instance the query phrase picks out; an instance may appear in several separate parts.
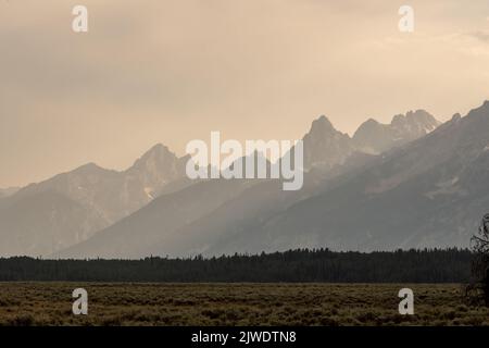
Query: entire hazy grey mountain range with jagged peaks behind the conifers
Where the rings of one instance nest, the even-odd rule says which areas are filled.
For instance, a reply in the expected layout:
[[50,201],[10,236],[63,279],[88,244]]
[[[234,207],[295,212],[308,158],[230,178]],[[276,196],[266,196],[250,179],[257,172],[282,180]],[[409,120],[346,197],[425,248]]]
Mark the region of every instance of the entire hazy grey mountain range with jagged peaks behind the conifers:
[[187,158],[163,146],[124,172],[89,164],[27,186],[0,199],[0,253],[465,247],[489,207],[489,102],[441,126],[423,110],[388,125],[368,120],[353,137],[322,116],[303,140],[298,191],[272,179],[189,182]]

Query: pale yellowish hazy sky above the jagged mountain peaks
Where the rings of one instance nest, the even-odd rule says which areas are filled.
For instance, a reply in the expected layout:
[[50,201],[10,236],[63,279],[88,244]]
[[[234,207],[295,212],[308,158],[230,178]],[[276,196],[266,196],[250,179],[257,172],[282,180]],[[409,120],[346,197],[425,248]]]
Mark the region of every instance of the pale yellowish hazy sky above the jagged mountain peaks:
[[489,99],[487,0],[9,0],[0,47],[0,187],[125,169],[156,142],[183,154],[211,130],[297,139],[325,114],[352,134]]

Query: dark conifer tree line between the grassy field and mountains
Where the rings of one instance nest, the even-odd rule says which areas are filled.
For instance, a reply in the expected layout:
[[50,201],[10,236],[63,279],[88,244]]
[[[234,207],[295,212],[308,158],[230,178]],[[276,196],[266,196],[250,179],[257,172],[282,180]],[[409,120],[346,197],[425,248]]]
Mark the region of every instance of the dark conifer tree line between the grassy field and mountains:
[[0,259],[0,282],[467,283],[468,249],[336,252],[297,249],[255,256],[141,260]]

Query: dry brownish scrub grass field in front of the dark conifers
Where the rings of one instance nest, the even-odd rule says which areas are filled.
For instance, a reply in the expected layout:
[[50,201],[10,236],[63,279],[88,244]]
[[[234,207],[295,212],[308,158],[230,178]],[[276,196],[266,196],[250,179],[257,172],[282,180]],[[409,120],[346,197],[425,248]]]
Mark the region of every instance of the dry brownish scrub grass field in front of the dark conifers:
[[[88,315],[72,314],[78,287]],[[0,283],[0,325],[489,325],[489,310],[462,285]]]

